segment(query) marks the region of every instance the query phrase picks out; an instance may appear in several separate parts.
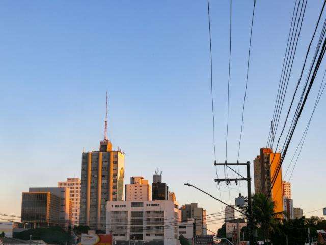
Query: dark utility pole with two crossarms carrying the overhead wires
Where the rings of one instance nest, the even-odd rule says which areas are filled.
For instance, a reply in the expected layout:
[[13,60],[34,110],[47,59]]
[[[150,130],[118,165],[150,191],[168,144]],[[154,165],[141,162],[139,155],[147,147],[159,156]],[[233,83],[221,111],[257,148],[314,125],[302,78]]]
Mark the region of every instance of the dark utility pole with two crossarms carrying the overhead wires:
[[[228,167],[230,168],[232,171],[234,171],[234,173],[238,174],[239,177],[242,178],[234,178],[234,179],[230,179],[230,178],[224,178],[224,179],[215,179],[215,182],[217,182],[218,184],[220,182],[226,182],[227,185],[231,183],[231,181],[235,181],[235,183],[237,184],[238,181],[247,181],[247,191],[248,191],[248,214],[247,215],[247,228],[248,228],[248,232],[249,232],[249,243],[250,245],[254,244],[254,235],[253,235],[253,214],[252,214],[252,204],[251,204],[251,176],[250,176],[250,162],[246,162],[246,163],[227,163],[225,161],[225,163],[214,163],[214,166],[224,166],[224,167]],[[247,166],[247,178],[243,177],[242,175],[240,175],[239,173],[237,173],[237,171],[235,171],[233,168],[231,168],[230,166]],[[229,206],[229,205],[228,205]]]

